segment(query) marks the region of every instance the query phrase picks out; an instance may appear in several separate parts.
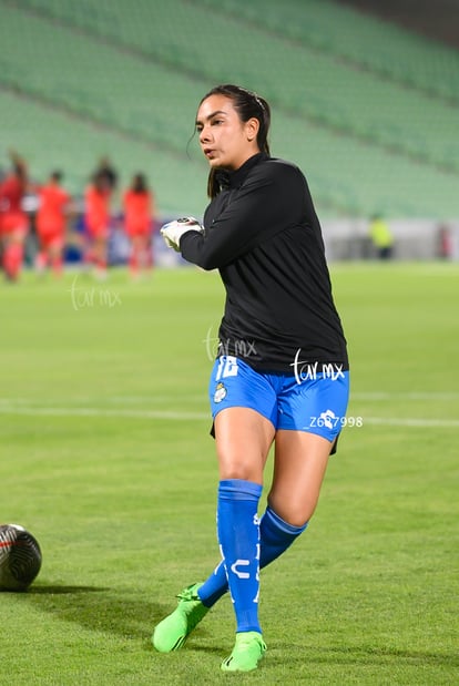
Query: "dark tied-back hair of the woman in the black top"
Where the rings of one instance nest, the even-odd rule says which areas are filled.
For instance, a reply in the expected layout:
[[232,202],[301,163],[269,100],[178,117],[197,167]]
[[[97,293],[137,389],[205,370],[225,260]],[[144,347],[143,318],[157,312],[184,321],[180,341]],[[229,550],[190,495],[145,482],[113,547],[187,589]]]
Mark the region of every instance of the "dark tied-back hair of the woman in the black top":
[[[211,95],[224,95],[225,98],[230,98],[230,100],[233,101],[233,106],[239,115],[242,122],[248,122],[249,119],[258,120],[259,127],[256,142],[259,150],[269,155],[268,133],[271,125],[271,109],[266,100],[253,91],[248,91],[239,85],[226,83],[224,85],[216,85],[212,89],[212,91],[208,91],[208,93],[206,93],[201,100],[200,106],[204,100],[207,100]],[[208,174],[208,197],[215,197],[220,193],[220,183],[216,177],[217,172],[218,170],[212,168]]]

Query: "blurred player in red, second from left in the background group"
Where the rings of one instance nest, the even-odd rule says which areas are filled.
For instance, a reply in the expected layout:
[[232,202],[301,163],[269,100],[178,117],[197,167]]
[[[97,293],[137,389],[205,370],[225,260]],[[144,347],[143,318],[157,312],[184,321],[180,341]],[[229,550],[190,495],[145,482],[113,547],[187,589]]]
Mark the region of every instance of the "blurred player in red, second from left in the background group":
[[70,195],[61,186],[62,173],[53,172],[39,192],[37,236],[39,253],[35,266],[43,272],[50,266],[55,276],[62,274],[65,227],[70,211]]

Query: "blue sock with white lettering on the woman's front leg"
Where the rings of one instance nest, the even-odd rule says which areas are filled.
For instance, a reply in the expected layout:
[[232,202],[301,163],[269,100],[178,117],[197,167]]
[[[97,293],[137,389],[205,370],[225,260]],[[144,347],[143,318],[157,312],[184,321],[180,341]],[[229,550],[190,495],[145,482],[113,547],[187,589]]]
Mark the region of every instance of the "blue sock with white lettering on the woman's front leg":
[[236,615],[236,632],[261,632],[258,622],[262,487],[243,479],[218,485],[217,533]]

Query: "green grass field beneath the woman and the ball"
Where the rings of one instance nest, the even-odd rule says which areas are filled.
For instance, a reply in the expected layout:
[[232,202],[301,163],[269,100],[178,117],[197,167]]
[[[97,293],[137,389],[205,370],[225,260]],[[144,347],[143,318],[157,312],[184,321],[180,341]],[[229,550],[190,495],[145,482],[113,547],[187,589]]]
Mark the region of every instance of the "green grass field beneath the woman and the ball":
[[150,644],[217,562],[217,275],[0,285],[0,521],[43,552],[29,592],[0,594],[1,686],[459,683],[459,266],[332,276],[363,426],[345,429],[308,531],[262,574],[268,652],[245,676],[220,673],[227,597],[182,652]]

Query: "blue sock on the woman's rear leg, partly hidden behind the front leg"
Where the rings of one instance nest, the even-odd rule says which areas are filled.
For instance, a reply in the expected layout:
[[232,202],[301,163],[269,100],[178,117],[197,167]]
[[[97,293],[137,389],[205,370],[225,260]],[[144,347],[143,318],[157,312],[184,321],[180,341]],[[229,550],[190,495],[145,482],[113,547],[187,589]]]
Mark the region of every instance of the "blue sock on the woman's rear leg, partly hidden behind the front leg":
[[[307,524],[308,522],[303,526],[293,526],[284,522],[268,505],[259,523],[259,569],[282,555],[303,533]],[[204,605],[212,607],[227,590],[225,565],[221,562],[214,573],[200,586],[197,594]]]

